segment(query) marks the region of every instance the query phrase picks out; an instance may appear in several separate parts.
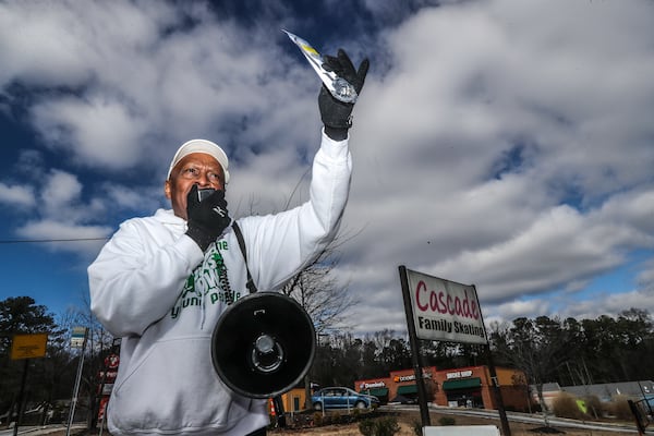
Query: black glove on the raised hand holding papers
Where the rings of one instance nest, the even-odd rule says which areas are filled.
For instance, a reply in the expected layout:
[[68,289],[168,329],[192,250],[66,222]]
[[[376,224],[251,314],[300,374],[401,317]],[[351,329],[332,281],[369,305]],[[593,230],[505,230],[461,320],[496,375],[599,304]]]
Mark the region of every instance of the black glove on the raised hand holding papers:
[[[361,93],[363,82],[370,68],[370,61],[366,59],[359,65],[359,71],[354,70],[352,61],[343,49],[338,50],[338,56],[324,56],[323,68],[328,71],[334,71],[339,77],[348,81],[356,94]],[[348,136],[348,129],[352,126],[352,109],[354,104],[343,102],[336,99],[329,90],[323,85],[318,95],[318,108],[320,109],[320,118],[325,124],[325,133],[332,140],[342,141]]]

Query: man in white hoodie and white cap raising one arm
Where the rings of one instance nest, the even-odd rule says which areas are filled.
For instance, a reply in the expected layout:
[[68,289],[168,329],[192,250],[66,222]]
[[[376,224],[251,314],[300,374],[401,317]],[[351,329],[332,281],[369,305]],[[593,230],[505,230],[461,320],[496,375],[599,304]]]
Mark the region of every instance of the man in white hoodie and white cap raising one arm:
[[[325,57],[325,66],[360,92],[368,62],[356,71],[339,50]],[[313,261],[334,238],[346,206],[353,105],[323,87],[318,106],[325,128],[310,201],[238,220],[247,267],[261,290],[279,288]],[[228,167],[216,144],[183,144],[165,184],[172,210],[123,222],[88,267],[92,310],[107,330],[122,337],[108,407],[114,436],[265,434],[266,401],[230,391],[210,358],[218,318],[247,293],[246,266],[225,199]],[[202,201],[201,191],[209,193]]]

